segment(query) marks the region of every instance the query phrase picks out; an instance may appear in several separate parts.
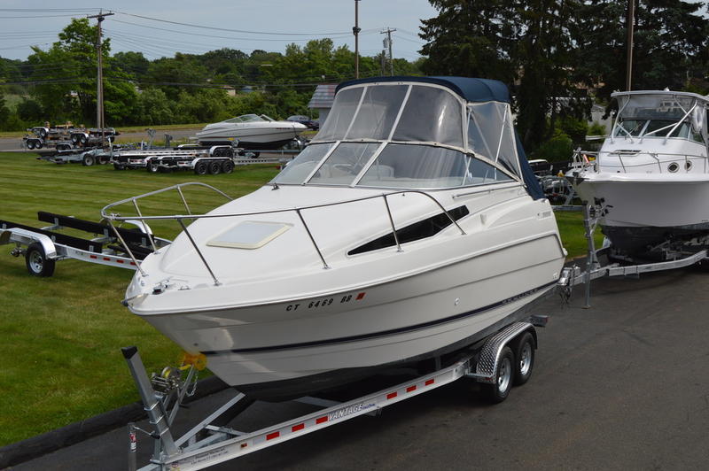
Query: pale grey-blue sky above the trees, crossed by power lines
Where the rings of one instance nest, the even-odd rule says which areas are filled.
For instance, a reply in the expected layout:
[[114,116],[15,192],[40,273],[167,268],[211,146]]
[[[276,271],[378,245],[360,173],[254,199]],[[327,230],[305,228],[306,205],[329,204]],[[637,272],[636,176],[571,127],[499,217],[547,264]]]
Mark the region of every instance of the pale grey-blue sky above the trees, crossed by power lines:
[[[358,4],[362,56],[378,54],[385,37],[381,31],[391,27],[396,28],[393,57],[419,57],[417,50],[424,44],[417,35],[420,19],[436,16],[428,0],[361,0]],[[32,45],[46,50],[72,18],[101,9],[115,13],[103,22],[112,54],[134,50],[155,59],[173,57],[176,51],[201,54],[221,48],[284,52],[289,43],[305,45],[323,37],[354,50],[354,0],[123,0],[114,4],[3,0],[0,57],[26,59]]]

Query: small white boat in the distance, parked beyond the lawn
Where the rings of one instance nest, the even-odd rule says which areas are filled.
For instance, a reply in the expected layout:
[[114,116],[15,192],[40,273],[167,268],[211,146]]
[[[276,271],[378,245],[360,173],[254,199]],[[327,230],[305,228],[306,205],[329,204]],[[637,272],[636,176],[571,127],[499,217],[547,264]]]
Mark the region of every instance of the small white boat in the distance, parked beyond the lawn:
[[218,123],[207,124],[197,140],[203,145],[238,141],[245,149],[278,149],[308,129],[293,121],[277,121],[265,114],[244,114]]

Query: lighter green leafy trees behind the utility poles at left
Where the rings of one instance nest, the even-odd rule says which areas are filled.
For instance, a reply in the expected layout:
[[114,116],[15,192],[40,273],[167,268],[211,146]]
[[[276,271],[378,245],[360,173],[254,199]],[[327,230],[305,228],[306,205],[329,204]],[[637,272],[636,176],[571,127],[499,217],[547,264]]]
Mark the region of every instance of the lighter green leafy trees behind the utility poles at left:
[[[45,120],[93,126],[97,34],[88,19],[73,19],[47,50],[33,47],[24,61],[0,58],[0,130]],[[135,51],[112,54],[110,37],[102,49],[105,122],[113,127],[214,122],[251,112],[311,116],[308,101],[318,83],[354,78],[354,52],[331,39],[290,44],[284,53],[224,48],[154,60]],[[394,71],[420,74],[419,64],[396,58]],[[362,77],[382,69],[381,56],[360,58]],[[4,98],[11,96],[16,103]]]

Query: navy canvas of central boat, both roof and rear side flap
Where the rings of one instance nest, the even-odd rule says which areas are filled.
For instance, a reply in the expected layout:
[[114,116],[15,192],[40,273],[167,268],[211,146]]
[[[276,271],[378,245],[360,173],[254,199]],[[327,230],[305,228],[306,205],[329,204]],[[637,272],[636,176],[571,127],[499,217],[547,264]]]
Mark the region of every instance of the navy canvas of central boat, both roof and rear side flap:
[[[353,81],[343,81],[336,89],[349,87],[350,85],[361,83],[381,83],[383,81],[420,81],[423,83],[432,83],[446,87],[456,93],[459,97],[464,98],[469,103],[485,103],[485,102],[502,102],[510,103],[510,92],[502,81],[490,79],[477,79],[471,77],[409,77],[395,75],[392,77],[370,77],[367,79],[358,79]],[[532,167],[526,158],[526,153],[522,147],[522,142],[515,132],[515,140],[517,141],[517,154],[519,158],[519,166],[522,174],[522,179],[525,181],[526,189],[534,199],[544,197],[544,192],[541,190],[539,181],[534,176]]]

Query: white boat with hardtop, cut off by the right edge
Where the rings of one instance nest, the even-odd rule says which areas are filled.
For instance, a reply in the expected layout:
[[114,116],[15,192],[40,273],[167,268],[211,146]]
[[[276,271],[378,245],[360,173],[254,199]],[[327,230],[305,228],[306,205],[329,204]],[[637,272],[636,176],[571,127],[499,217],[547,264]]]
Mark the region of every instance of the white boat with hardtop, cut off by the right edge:
[[642,257],[709,234],[709,99],[669,90],[612,97],[619,112],[611,135],[570,179],[581,199],[605,206],[600,224],[612,247]]

